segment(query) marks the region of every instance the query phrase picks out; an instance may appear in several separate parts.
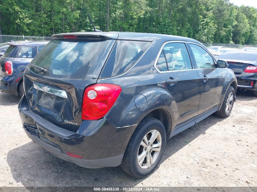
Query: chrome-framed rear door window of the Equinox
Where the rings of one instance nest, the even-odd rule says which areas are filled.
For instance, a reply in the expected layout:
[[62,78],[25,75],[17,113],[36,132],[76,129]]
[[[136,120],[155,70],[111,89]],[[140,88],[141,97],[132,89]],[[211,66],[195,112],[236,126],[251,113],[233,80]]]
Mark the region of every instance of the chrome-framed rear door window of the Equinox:
[[159,71],[176,71],[192,69],[186,45],[184,43],[167,43],[156,63]]

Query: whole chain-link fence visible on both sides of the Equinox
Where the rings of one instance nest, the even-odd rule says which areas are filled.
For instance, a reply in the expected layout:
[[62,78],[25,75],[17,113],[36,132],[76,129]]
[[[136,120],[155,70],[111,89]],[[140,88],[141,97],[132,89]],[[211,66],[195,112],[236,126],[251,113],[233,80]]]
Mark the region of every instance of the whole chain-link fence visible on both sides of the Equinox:
[[[24,36],[25,40],[28,41],[50,41],[52,37],[40,37],[40,36]],[[0,35],[0,43],[10,42],[10,41],[23,41],[23,36],[18,35]],[[227,48],[242,49],[244,47],[257,47],[257,45],[239,45],[239,44],[226,44],[226,43],[207,43],[202,42],[204,46],[224,46]]]

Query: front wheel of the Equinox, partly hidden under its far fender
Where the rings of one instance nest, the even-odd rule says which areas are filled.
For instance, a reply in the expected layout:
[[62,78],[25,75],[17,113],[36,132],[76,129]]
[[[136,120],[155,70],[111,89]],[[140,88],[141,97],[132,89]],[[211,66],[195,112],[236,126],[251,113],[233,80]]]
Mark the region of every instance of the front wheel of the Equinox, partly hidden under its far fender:
[[232,86],[229,86],[227,93],[225,95],[224,101],[220,111],[216,111],[215,114],[218,117],[226,118],[230,115],[231,110],[234,105],[235,100],[235,90]]

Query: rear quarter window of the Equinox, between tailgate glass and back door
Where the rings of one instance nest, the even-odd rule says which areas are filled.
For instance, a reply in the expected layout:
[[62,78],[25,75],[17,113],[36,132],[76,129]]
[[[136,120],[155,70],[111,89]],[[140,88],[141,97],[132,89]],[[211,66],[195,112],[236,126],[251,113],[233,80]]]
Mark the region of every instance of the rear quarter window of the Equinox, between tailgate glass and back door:
[[150,44],[151,42],[118,40],[105,64],[101,78],[126,72]]

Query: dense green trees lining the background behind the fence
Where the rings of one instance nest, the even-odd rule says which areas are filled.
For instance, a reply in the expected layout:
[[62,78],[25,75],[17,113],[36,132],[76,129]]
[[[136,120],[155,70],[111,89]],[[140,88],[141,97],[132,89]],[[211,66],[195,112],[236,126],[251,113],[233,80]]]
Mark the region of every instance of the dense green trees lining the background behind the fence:
[[108,16],[107,0],[0,0],[0,31],[40,36],[92,31],[87,14],[102,31],[257,43],[257,9],[238,7],[229,0],[109,0]]

